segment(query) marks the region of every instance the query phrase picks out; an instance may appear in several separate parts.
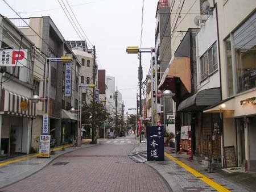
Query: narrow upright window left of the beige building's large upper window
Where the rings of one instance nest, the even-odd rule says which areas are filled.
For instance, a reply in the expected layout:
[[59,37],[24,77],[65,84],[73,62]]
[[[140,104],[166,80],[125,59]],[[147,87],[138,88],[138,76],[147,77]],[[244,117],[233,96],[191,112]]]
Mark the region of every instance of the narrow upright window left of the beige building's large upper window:
[[230,97],[234,95],[230,37],[226,40],[225,43],[226,43],[226,62],[228,66],[228,95]]

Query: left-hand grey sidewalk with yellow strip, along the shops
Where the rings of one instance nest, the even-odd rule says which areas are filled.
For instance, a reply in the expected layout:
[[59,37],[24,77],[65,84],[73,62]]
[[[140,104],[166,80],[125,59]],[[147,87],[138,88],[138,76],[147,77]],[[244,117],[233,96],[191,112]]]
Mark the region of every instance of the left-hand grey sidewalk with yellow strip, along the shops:
[[58,147],[55,149],[55,155],[51,155],[50,158],[37,158],[38,154],[35,154],[0,161],[0,189],[38,172],[64,153],[92,147],[94,145],[97,144],[89,144],[86,142],[83,143],[81,147],[70,147],[70,145],[65,145],[65,151],[61,151],[62,147]]

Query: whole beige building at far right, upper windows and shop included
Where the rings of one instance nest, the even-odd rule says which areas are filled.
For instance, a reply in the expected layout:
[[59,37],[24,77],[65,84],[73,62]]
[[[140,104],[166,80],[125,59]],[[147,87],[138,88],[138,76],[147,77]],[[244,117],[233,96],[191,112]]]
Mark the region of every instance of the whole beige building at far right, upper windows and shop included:
[[237,166],[255,171],[256,1],[219,0],[216,3],[222,102],[204,112],[222,114],[222,147],[234,146]]

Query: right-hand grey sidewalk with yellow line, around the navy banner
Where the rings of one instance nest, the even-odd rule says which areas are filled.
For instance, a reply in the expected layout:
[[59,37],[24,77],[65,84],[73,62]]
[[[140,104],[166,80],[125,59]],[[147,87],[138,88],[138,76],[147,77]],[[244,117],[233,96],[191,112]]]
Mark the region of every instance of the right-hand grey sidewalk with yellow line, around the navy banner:
[[[199,162],[189,161],[187,153],[175,154],[170,147],[165,148],[165,152],[164,161],[146,161],[146,144],[142,143],[133,150],[130,157],[156,169],[173,191],[216,191],[215,189],[218,191],[255,191],[256,189],[256,187],[245,185],[243,182],[238,183],[241,176],[241,179],[246,178],[253,183],[252,185],[256,185],[254,177],[242,176],[245,173],[236,173],[236,180],[233,180],[230,174],[224,174],[221,170],[208,173]],[[246,174],[246,176],[250,175],[254,176],[251,173]]]

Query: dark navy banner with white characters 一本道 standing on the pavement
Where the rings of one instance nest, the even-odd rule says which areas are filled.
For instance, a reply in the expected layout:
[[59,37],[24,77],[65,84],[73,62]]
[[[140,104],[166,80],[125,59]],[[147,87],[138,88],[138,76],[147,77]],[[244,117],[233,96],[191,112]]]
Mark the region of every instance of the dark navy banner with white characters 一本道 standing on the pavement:
[[147,160],[164,161],[164,130],[163,126],[148,126],[147,133]]

